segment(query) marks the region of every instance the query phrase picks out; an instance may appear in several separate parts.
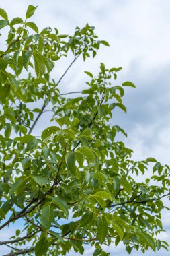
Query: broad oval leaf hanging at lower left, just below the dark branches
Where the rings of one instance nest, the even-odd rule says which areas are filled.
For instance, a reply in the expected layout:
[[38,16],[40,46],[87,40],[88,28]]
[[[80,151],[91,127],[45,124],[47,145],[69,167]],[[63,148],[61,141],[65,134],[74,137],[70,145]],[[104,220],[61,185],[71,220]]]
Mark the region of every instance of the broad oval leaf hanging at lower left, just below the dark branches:
[[42,226],[45,229],[49,229],[52,223],[52,220],[54,219],[54,208],[52,205],[47,205],[42,208],[42,214],[40,216],[40,221]]

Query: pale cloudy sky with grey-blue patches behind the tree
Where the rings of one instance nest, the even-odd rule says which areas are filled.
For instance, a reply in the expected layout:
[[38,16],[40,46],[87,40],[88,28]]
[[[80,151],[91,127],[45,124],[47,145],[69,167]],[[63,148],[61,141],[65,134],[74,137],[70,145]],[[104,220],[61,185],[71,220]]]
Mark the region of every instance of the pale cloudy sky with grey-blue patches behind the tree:
[[[99,39],[107,40],[110,48],[101,47],[97,57],[87,59],[85,63],[79,59],[60,84],[60,91],[85,88],[87,77],[83,71],[97,74],[100,62],[106,67],[123,67],[116,85],[131,81],[137,89],[126,88],[124,104],[128,113],[117,111],[113,123],[122,126],[128,133],[124,143],[134,150],[135,160],[153,156],[161,163],[170,165],[169,0],[1,0],[0,3],[9,18],[24,18],[29,4],[38,5],[32,21],[39,28],[55,26],[61,34],[73,34],[76,26],[83,27],[87,22],[95,26]],[[66,66],[65,61],[62,65],[56,64],[56,79]],[[38,129],[46,128],[43,120],[38,125]],[[164,212],[163,222],[167,233],[162,237],[170,243],[169,213]],[[85,256],[91,255],[91,250],[87,248]],[[122,246],[109,248],[108,251],[113,256],[127,255]],[[166,251],[157,252],[157,256],[164,253],[166,255]]]

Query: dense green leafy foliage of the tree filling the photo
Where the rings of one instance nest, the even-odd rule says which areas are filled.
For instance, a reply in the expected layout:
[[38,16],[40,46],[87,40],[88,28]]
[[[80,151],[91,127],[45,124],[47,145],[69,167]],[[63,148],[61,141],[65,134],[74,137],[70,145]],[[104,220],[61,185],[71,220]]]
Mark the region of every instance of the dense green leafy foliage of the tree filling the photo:
[[[169,198],[169,167],[154,158],[132,160],[132,150],[115,139],[126,133],[110,124],[114,108],[126,112],[124,86],[134,84],[112,86],[121,68],[101,63],[97,77],[85,72],[87,89],[77,98],[60,94],[58,84],[77,58],[95,57],[101,44],[109,44],[89,24],[73,36],[56,28],[39,33],[30,21],[35,10],[30,5],[25,20],[9,21],[0,9],[0,28],[9,28],[7,48],[0,51],[0,229],[23,224],[0,245],[12,246],[9,255],[38,256],[66,255],[71,248],[83,254],[88,244],[93,255],[109,255],[101,245],[120,241],[128,253],[167,249],[157,234],[163,231],[162,199]],[[54,63],[69,53],[73,61],[55,82]],[[33,133],[46,111],[51,126]],[[151,178],[135,179],[150,162]]]

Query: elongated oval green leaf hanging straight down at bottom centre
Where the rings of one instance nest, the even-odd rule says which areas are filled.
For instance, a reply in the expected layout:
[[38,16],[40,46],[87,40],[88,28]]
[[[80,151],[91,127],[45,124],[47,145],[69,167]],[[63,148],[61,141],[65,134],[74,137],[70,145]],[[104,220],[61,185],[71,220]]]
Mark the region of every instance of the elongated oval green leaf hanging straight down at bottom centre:
[[108,222],[105,216],[99,216],[97,219],[97,238],[100,243],[104,243],[105,237],[108,234]]

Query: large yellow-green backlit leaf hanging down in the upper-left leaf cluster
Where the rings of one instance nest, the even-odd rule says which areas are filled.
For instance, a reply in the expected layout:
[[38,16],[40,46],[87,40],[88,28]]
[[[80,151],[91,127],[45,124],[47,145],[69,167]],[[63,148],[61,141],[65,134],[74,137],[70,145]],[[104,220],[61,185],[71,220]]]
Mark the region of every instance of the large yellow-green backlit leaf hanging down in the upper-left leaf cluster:
[[33,52],[34,65],[37,77],[44,75],[46,71],[46,65],[44,64],[43,57],[39,53]]

